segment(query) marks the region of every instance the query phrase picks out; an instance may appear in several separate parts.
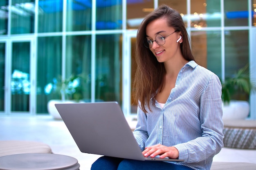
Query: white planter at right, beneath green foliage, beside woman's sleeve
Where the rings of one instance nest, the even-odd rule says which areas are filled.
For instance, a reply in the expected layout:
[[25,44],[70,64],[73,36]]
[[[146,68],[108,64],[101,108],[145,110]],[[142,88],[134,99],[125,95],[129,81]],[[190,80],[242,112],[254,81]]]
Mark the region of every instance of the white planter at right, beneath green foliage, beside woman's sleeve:
[[232,100],[229,105],[222,103],[223,120],[245,119],[249,115],[249,103],[247,101]]

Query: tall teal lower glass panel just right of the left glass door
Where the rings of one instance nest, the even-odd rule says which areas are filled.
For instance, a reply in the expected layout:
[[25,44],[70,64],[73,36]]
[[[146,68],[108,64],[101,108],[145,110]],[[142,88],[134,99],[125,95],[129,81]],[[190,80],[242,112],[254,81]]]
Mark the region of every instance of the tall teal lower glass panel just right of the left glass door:
[[38,38],[36,113],[47,113],[47,102],[61,99],[61,43],[61,37]]

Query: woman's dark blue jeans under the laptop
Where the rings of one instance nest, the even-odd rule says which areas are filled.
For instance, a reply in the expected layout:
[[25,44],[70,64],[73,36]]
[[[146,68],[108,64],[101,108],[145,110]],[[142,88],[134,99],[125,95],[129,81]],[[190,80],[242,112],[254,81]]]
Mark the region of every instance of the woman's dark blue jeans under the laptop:
[[97,159],[91,170],[192,170],[189,167],[162,161],[137,161],[103,156]]

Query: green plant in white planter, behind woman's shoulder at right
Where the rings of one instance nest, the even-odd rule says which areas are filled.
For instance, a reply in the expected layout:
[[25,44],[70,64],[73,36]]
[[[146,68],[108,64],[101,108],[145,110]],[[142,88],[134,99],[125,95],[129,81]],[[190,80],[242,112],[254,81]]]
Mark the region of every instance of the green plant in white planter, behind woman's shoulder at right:
[[255,82],[250,80],[249,65],[240,68],[233,77],[222,82],[222,119],[245,119],[249,115],[247,99],[256,91]]

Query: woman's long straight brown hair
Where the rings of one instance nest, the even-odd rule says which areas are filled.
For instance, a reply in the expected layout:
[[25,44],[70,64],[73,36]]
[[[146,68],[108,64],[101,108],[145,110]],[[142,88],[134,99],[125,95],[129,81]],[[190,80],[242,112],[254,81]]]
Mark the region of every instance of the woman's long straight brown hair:
[[159,63],[150,49],[146,48],[143,44],[144,38],[146,37],[147,25],[153,20],[159,18],[165,18],[168,22],[168,26],[180,31],[183,40],[183,42],[180,44],[182,55],[184,59],[188,61],[194,60],[189,44],[189,36],[180,13],[167,5],[162,5],[144,18],[137,32],[137,70],[133,84],[133,95],[135,102],[137,102],[138,105],[140,102],[139,107],[144,111],[144,113],[147,113],[146,108],[151,110],[149,106],[152,97],[153,104],[155,105],[154,97],[157,90],[162,90],[164,75],[166,73],[164,64]]

